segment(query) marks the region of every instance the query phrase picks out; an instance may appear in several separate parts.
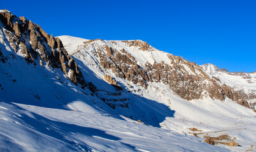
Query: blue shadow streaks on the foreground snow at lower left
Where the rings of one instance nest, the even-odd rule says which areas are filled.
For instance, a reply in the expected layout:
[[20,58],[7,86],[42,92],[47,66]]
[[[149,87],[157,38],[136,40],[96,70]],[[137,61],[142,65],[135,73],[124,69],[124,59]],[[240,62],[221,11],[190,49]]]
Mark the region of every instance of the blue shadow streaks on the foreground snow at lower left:
[[[14,105],[13,103],[8,104],[15,107],[15,109],[22,110],[27,113],[27,110],[21,108],[20,106]],[[21,119],[18,120],[22,127],[21,129],[29,132],[29,134],[25,134],[25,136],[32,136],[32,140],[34,143],[40,143],[36,144],[36,148],[39,148],[38,150],[46,149],[45,146],[50,146],[49,144],[45,145],[42,143],[43,140],[46,140],[46,143],[51,143],[51,141],[54,141],[54,143],[57,142],[62,145],[54,145],[56,146],[56,149],[59,149],[58,151],[64,150],[63,148],[68,148],[73,151],[91,151],[93,147],[91,148],[87,144],[87,142],[90,143],[92,142],[90,140],[93,140],[93,143],[100,144],[101,146],[103,145],[103,148],[104,146],[106,148],[108,148],[109,146],[113,146],[113,149],[115,149],[115,146],[117,146],[116,144],[120,144],[127,149],[136,151],[134,146],[122,143],[120,142],[121,139],[119,137],[107,134],[105,131],[100,129],[82,127],[80,125],[68,124],[64,122],[57,122],[42,117],[41,115],[33,112],[30,112],[29,116],[22,114],[19,119]],[[18,132],[17,134],[22,134],[22,132]],[[22,135],[17,136],[22,138],[25,137]],[[11,139],[10,136],[2,137],[1,139],[4,139],[4,141],[0,141],[0,143],[4,143],[6,146],[1,147],[2,149],[0,149],[0,151],[10,151],[10,147],[8,147],[9,144],[11,146],[14,146],[12,148],[14,148],[15,150],[18,149],[19,151],[25,151],[25,149],[20,146],[22,144],[17,144],[15,142],[12,143],[11,141],[13,141],[13,139]],[[25,144],[31,144],[31,141],[29,140],[23,139],[22,142]],[[94,144],[94,146],[97,144]],[[97,148],[97,146],[95,146],[95,148]]]

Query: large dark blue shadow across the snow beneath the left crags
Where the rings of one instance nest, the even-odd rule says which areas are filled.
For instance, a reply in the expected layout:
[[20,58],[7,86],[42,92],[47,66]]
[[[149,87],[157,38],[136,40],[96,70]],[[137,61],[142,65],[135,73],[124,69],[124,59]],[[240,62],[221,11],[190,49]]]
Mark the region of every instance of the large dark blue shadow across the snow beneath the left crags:
[[[123,119],[118,115],[124,115],[154,127],[160,127],[160,123],[166,117],[174,117],[175,111],[168,106],[129,92],[123,84],[120,84],[123,90],[116,91],[115,87],[99,78],[82,61],[74,59],[80,67],[85,81],[92,82],[97,87],[97,91],[90,92],[88,86],[85,90],[77,87],[66,80],[59,69],[49,72],[40,65],[21,65],[13,62],[10,69],[5,68],[12,70],[14,66],[17,66],[18,70],[13,73],[11,79],[3,76],[3,81],[10,82],[15,79],[15,82],[10,82],[5,87],[2,86],[0,95],[14,103],[59,109],[67,109],[67,105],[70,103],[82,101],[96,110],[110,113],[112,117]],[[1,63],[3,67],[6,65],[7,63]],[[92,101],[94,99],[97,100],[97,104]],[[128,108],[125,108],[125,104],[128,105]],[[111,105],[115,105],[115,107]]]

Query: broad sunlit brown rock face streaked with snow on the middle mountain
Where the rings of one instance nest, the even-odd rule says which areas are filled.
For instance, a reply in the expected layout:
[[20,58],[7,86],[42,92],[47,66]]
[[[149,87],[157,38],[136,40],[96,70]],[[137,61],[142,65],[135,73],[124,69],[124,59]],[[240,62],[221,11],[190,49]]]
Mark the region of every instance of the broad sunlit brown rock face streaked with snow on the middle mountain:
[[[93,48],[93,49],[92,49]],[[134,84],[148,87],[149,82],[159,82],[169,87],[183,99],[232,99],[240,105],[248,106],[246,100],[228,85],[222,84],[216,77],[211,77],[196,63],[183,60],[179,56],[163,53],[143,41],[103,41],[100,39],[84,42],[79,49],[91,50],[99,58],[103,70],[111,70],[117,77]],[[137,51],[137,52],[136,52]],[[132,55],[131,53],[134,53]],[[150,61],[139,60],[147,54]],[[156,58],[152,54],[161,58]],[[160,54],[160,55],[159,55]],[[106,75],[105,75],[106,76]],[[105,78],[106,79],[106,78]]]

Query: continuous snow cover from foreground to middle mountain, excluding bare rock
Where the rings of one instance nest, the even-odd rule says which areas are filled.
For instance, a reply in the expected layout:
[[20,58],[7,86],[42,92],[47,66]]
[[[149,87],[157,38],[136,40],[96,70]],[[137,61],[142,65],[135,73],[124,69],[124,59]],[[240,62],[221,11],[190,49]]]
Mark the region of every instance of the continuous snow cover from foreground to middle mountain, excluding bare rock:
[[[102,70],[94,49],[80,46],[86,39],[59,38],[74,53],[86,82],[93,82],[99,91],[83,90],[57,68],[28,65],[11,49],[2,28],[0,51],[8,60],[0,64],[0,151],[245,151],[256,145],[252,110],[231,100],[187,101],[157,82],[143,89]],[[141,65],[170,61],[162,51],[141,51],[115,42],[97,44],[125,47]],[[124,91],[115,91],[103,79],[106,73]],[[125,99],[129,108],[113,110],[101,98]],[[191,127],[203,135],[229,134],[241,146],[212,146],[200,134],[192,136]]]

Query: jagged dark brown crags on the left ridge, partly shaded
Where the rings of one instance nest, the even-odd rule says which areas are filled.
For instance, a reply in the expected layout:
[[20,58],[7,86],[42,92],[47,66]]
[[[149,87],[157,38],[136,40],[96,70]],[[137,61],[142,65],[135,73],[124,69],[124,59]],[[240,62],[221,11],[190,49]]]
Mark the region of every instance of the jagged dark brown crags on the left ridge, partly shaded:
[[[24,17],[4,10],[0,13],[3,32],[17,54],[23,54],[28,63],[61,68],[76,85],[85,85],[83,75],[75,61],[68,55],[59,38],[48,35],[39,25]],[[1,57],[1,54],[0,54]],[[2,57],[1,57],[2,60]]]

